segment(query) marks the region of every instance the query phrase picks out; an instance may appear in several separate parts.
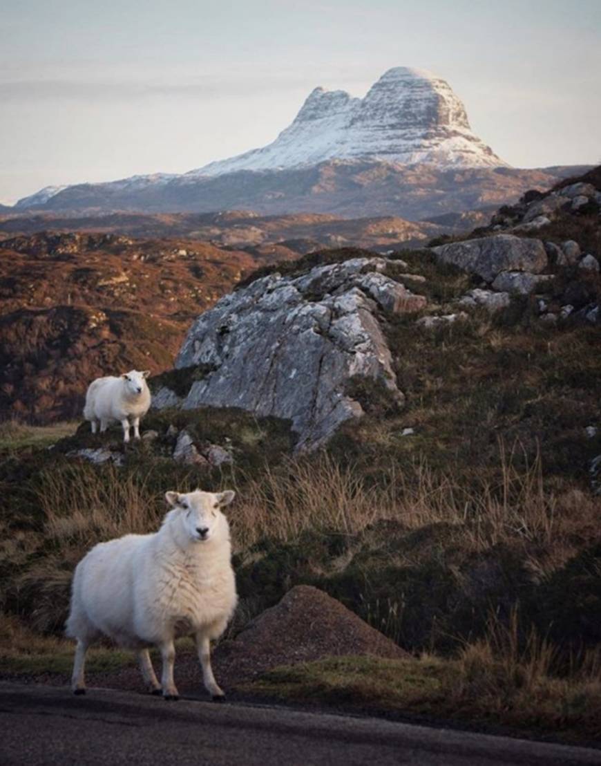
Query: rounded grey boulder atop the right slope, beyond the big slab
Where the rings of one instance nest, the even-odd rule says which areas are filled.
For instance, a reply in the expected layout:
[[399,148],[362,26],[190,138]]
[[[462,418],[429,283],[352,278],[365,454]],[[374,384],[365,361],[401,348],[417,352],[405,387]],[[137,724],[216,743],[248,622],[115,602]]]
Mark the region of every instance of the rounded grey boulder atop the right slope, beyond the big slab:
[[478,274],[486,282],[492,282],[501,271],[539,273],[547,266],[547,253],[541,240],[513,234],[450,242],[433,247],[433,253],[440,263]]

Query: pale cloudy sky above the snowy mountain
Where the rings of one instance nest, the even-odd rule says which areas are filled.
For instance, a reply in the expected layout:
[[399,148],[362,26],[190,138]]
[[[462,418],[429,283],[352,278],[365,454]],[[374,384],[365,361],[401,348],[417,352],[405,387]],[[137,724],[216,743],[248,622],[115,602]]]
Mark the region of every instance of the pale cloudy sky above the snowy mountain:
[[271,142],[310,91],[431,70],[516,167],[601,162],[601,0],[14,0],[0,201]]

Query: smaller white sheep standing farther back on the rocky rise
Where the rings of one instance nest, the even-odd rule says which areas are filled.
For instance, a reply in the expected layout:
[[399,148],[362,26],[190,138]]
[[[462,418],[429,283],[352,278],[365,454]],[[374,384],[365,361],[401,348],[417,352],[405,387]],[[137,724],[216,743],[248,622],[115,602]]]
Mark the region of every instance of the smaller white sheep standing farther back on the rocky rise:
[[96,378],[88,386],[83,417],[92,424],[92,433],[100,423],[100,433],[110,421],[119,421],[123,427],[123,441],[129,442],[130,419],[136,439],[140,437],[140,417],[150,407],[150,391],[146,384],[149,370],[124,372],[119,378],[109,375]]

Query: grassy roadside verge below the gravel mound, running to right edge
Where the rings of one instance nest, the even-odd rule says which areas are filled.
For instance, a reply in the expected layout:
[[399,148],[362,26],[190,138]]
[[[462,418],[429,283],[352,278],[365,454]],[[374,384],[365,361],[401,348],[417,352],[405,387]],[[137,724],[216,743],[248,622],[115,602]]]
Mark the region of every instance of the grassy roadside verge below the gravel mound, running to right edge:
[[[520,673],[520,670],[522,673]],[[451,720],[520,735],[593,742],[601,735],[601,683],[510,669],[472,648],[455,660],[328,657],[279,667],[245,683],[254,696],[302,705]]]

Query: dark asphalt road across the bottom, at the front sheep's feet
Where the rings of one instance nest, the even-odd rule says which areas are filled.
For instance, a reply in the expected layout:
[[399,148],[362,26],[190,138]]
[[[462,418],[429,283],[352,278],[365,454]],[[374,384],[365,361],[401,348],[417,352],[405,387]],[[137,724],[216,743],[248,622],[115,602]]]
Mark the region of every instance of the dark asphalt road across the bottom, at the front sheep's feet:
[[569,766],[601,751],[379,719],[0,683],[0,764]]

